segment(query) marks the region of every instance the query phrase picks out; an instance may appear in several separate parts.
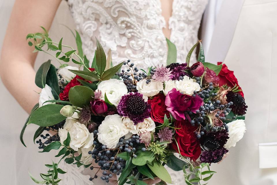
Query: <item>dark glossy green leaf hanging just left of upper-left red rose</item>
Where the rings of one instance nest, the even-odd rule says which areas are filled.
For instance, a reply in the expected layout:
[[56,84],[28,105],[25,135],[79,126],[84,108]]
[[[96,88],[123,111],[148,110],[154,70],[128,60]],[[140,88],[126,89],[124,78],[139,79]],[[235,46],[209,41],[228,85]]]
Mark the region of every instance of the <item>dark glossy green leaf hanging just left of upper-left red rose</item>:
[[59,88],[59,81],[57,76],[57,70],[54,65],[50,65],[48,73],[46,75],[46,84],[51,87],[51,92],[54,98],[57,100],[59,99],[60,88]]

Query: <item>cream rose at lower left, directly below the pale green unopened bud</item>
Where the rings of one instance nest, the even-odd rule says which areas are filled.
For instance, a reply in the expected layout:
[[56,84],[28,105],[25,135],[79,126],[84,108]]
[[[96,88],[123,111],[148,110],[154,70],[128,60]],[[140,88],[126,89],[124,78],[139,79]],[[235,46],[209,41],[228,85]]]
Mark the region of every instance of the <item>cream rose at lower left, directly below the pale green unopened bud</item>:
[[69,146],[73,150],[78,151],[79,148],[81,148],[83,145],[86,146],[86,144],[88,144],[86,148],[92,146],[93,133],[89,133],[89,130],[84,124],[81,124],[79,122],[73,123],[68,129],[68,132],[70,134]]

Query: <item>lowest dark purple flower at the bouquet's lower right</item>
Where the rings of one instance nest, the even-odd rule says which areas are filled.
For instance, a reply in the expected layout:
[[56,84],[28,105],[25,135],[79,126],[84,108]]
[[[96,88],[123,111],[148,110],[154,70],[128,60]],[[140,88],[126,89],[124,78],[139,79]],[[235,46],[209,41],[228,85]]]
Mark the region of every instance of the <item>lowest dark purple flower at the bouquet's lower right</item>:
[[228,150],[226,148],[220,148],[216,149],[214,151],[212,150],[206,150],[203,151],[203,153],[200,156],[201,162],[207,162],[207,163],[217,163],[222,160],[225,153],[227,153]]

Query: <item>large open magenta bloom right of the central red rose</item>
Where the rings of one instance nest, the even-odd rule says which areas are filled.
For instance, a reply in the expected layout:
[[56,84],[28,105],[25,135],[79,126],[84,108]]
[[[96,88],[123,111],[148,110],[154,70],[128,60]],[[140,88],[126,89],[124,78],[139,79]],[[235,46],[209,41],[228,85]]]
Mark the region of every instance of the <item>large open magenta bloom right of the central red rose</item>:
[[176,88],[173,88],[168,92],[165,98],[165,105],[174,119],[182,121],[185,118],[185,111],[196,112],[200,106],[203,105],[203,99],[196,95],[195,97],[190,95],[184,95]]

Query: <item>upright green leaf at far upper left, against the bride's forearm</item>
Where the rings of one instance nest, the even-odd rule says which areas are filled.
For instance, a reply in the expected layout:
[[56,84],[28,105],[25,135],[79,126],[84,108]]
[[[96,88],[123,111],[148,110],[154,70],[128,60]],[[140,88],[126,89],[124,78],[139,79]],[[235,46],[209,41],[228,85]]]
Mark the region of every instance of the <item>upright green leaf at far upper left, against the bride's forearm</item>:
[[45,87],[46,75],[48,73],[50,65],[51,65],[51,60],[44,62],[38,69],[37,73],[35,74],[35,84],[40,88]]

